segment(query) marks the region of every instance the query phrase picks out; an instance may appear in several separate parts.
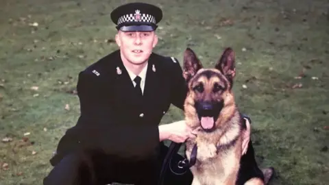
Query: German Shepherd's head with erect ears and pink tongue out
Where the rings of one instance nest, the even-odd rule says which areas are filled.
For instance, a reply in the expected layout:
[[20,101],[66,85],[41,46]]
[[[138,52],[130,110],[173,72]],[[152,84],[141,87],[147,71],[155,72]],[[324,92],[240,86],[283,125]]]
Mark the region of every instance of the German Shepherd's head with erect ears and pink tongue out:
[[191,49],[184,52],[183,75],[188,83],[184,110],[191,127],[201,126],[204,131],[212,132],[234,114],[234,60],[233,50],[227,48],[215,68],[204,69]]

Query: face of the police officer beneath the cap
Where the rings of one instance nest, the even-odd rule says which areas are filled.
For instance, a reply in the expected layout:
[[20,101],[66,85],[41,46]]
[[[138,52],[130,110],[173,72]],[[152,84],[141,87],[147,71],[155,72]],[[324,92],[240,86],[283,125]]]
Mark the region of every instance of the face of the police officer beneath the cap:
[[158,43],[155,32],[121,32],[115,36],[122,57],[132,64],[143,64]]

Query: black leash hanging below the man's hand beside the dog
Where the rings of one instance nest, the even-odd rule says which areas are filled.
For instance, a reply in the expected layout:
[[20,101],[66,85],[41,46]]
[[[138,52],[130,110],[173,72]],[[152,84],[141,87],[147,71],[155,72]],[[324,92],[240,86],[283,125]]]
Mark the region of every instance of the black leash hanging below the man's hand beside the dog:
[[[171,142],[171,144],[169,145],[168,153],[162,163],[158,185],[163,184],[164,176],[166,175],[166,171],[171,163],[171,158],[173,158],[173,155],[175,155],[175,153],[178,153],[178,150],[180,149],[181,145],[182,143],[175,143],[175,142]],[[181,169],[183,168],[185,170],[188,170],[190,167],[192,167],[195,164],[196,161],[197,161],[197,145],[194,145],[191,152],[191,162],[188,162],[187,158],[184,158],[184,160],[180,160],[180,162],[178,162],[179,165],[178,167]],[[175,173],[173,171],[171,172]]]

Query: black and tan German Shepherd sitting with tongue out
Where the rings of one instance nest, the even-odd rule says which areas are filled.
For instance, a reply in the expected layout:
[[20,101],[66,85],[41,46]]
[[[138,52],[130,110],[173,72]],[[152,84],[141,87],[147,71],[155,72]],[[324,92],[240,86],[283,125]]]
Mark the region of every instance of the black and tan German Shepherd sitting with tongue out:
[[234,60],[234,51],[227,48],[214,69],[204,69],[190,48],[184,52],[185,119],[193,130],[201,127],[195,139],[186,140],[188,161],[197,149],[192,185],[267,184],[273,174],[273,168],[258,168],[251,141],[242,156],[246,127],[232,93]]

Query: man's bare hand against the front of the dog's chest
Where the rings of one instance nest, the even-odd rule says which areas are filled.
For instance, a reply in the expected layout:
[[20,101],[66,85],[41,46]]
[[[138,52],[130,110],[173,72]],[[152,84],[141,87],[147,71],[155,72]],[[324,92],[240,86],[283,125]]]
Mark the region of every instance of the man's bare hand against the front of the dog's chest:
[[187,138],[195,138],[195,131],[185,121],[159,126],[160,141],[169,139],[175,143],[184,143]]

